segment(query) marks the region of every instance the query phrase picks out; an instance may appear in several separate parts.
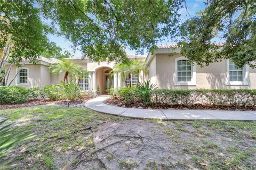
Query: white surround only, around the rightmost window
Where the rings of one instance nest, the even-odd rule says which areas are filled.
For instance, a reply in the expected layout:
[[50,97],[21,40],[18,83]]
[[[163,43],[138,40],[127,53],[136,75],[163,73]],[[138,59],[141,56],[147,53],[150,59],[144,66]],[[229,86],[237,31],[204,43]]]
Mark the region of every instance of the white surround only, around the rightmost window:
[[227,69],[227,85],[228,86],[249,86],[249,65],[243,66],[243,80],[242,81],[229,81],[229,60],[226,60]]

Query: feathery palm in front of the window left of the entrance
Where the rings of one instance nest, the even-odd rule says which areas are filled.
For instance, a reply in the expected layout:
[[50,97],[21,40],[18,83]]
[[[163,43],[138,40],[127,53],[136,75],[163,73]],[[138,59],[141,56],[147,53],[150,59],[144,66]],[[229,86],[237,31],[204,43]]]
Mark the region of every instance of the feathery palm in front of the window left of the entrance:
[[82,66],[72,62],[71,60],[64,59],[62,59],[58,64],[51,65],[49,69],[52,75],[65,73],[63,81],[66,83],[68,83],[68,76],[73,79],[74,77],[79,77],[83,72]]

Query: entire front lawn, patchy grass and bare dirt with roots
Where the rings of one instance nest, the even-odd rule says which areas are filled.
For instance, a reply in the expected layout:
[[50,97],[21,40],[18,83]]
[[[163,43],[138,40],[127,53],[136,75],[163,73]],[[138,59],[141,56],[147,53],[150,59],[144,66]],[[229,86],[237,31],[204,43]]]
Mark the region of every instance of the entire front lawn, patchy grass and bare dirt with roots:
[[4,169],[254,169],[256,122],[159,121],[76,107],[0,111],[34,139]]

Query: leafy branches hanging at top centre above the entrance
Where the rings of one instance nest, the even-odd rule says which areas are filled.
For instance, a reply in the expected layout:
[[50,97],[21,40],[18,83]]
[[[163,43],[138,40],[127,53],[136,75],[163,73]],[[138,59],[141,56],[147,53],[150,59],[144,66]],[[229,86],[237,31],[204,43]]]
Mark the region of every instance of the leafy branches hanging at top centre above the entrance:
[[183,1],[39,1],[45,18],[95,62],[127,61],[124,47],[153,49],[174,37]]

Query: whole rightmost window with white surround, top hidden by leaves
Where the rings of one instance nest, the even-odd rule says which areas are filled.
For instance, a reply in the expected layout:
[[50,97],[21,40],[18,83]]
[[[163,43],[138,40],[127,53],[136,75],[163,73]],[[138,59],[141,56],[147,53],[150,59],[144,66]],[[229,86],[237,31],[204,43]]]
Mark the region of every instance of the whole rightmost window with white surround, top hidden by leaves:
[[228,85],[249,85],[249,66],[237,68],[236,65],[227,60]]

